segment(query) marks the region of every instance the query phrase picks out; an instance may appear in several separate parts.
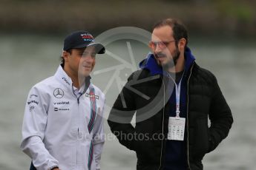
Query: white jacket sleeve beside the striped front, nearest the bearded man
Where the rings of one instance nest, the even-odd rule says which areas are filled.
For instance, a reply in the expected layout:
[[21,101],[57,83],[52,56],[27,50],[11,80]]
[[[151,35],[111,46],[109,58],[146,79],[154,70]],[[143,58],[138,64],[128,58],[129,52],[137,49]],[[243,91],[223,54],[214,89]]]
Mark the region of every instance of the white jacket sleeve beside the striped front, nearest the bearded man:
[[100,169],[100,158],[102,154],[103,145],[105,143],[103,113],[104,106],[102,107],[102,110],[98,109],[95,124],[93,126],[93,155],[95,158],[96,170]]

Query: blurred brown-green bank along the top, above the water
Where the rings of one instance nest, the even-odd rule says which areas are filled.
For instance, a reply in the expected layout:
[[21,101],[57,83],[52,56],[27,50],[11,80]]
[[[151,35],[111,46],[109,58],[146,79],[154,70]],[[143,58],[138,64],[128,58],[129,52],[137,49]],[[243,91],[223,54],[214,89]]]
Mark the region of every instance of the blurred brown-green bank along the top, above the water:
[[1,0],[0,30],[102,32],[131,26],[151,30],[155,21],[180,18],[191,32],[256,35],[254,0]]

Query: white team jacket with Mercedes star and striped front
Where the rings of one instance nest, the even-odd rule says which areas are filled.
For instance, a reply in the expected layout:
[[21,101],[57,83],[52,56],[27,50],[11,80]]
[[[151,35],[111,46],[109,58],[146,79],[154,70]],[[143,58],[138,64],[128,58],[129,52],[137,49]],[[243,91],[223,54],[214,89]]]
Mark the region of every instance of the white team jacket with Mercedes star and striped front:
[[55,75],[30,89],[22,126],[23,152],[38,170],[99,169],[104,104],[105,95],[93,84],[76,97],[71,79],[59,66]]

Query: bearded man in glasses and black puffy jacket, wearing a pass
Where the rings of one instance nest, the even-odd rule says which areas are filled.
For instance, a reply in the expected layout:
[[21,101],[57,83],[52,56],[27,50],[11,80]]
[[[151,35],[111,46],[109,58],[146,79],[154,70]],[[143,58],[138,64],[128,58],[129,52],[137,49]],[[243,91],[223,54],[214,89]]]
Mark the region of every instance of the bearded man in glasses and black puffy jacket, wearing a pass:
[[217,79],[195,63],[187,44],[183,24],[171,18],[158,22],[152,54],[111,109],[111,131],[136,152],[138,170],[201,170],[204,155],[229,134],[232,112]]

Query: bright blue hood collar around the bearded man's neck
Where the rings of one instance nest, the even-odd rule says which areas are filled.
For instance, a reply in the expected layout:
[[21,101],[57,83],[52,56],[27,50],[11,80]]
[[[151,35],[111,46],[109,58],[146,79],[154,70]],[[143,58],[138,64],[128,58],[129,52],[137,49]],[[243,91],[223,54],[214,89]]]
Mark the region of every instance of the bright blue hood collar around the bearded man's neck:
[[[186,47],[185,50],[185,60],[185,72],[188,72],[188,69],[195,60],[194,55],[192,55],[191,50],[188,47]],[[151,75],[167,76],[167,72],[165,72],[163,68],[157,64],[157,61],[152,53],[149,53],[147,58],[140,62],[140,69],[148,69]]]

